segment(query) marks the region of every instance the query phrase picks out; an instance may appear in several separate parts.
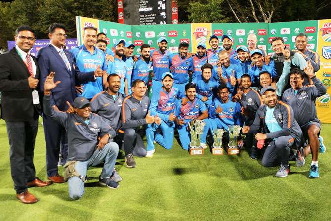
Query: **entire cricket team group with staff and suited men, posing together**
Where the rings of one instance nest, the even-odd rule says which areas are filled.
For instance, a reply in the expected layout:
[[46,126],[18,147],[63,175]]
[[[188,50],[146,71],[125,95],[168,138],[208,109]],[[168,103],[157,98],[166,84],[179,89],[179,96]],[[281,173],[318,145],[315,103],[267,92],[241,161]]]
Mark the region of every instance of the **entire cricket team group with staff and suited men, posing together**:
[[[184,150],[206,149],[217,143],[217,129],[225,130],[222,142],[229,142],[235,125],[242,128],[238,147],[246,148],[251,159],[262,158],[265,167],[280,165],[277,177],[288,176],[289,160],[302,167],[309,153],[309,177],[319,177],[318,154],[326,148],[315,100],[326,88],[315,76],[319,55],[307,49],[304,33],[296,36],[297,50],[289,50],[281,37],[272,39],[272,55],[257,47],[255,34],[248,35],[247,47],[237,48],[231,36],[212,35],[211,48],[201,43],[196,53],[182,42],[178,54],[160,37],[159,48],[143,44],[139,55],[124,40],[111,50],[107,35],[95,27],[85,27],[83,44],[70,51],[64,25],[51,24],[48,36],[50,44],[34,57],[34,31],[20,26],[16,47],[0,55],[1,118],[16,196],[23,203],[38,201],[29,187],[53,182],[68,181],[69,196],[81,198],[88,167],[101,163],[99,183],[116,189],[122,180],[115,170],[119,149],[126,166],[134,168],[133,156],[157,154],[155,143],[171,149],[174,133]],[[39,115],[49,181],[36,177],[33,164]],[[192,146],[196,120],[203,121],[203,134]],[[58,173],[62,165],[64,176]]]

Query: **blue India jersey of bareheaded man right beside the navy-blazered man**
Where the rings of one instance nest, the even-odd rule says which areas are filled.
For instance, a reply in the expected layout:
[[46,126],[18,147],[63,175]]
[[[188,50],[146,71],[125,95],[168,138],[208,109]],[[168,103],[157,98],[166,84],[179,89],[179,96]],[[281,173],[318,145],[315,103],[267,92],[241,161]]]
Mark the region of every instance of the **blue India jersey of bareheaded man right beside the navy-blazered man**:
[[[95,71],[99,66],[102,70],[107,69],[103,52],[95,46],[93,54],[87,50],[84,44],[75,47],[70,50],[70,52],[72,53],[76,65],[81,72]],[[82,94],[77,93],[77,96],[84,96],[87,99],[92,99],[95,94],[103,91],[102,77],[97,77],[94,82],[85,82],[82,85],[84,86],[84,91]]]

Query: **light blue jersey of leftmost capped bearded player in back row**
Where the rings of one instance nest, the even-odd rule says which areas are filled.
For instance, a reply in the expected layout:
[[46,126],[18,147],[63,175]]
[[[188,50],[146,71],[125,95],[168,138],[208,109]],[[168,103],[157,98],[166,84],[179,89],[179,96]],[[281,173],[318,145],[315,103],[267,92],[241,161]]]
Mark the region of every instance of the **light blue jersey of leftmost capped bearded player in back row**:
[[122,59],[118,59],[114,57],[114,62],[108,61],[108,67],[107,67],[107,74],[118,74],[121,78],[121,88],[119,89],[119,92],[122,93],[125,96],[125,82],[124,78],[126,76],[126,63]]

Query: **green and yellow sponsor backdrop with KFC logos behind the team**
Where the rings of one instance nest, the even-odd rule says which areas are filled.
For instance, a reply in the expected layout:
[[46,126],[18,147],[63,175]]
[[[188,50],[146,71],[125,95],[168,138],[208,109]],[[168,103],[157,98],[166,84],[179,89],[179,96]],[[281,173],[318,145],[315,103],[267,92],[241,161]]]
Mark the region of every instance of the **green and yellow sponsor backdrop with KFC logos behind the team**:
[[[258,47],[263,48],[268,54],[272,53],[270,41],[276,36],[284,38],[285,44],[291,49],[295,48],[295,36],[301,32],[308,37],[308,48],[318,52],[321,58],[321,69],[316,73],[327,87],[327,94],[316,101],[318,117],[322,122],[331,123],[331,19],[297,21],[283,23],[195,23],[195,24],[166,24],[166,25],[124,25],[113,22],[101,21],[85,17],[76,17],[78,44],[82,44],[83,27],[94,26],[101,32],[106,32],[109,38],[109,48],[113,42],[124,39],[131,41],[136,46],[134,54],[139,55],[140,45],[149,44],[151,48],[157,47],[159,37],[168,39],[168,49],[178,52],[180,42],[190,44],[189,51],[196,52],[197,44],[207,43],[211,35],[221,37],[223,34],[234,38],[234,48],[246,45],[247,36],[256,34]],[[221,46],[221,44],[220,44]]]

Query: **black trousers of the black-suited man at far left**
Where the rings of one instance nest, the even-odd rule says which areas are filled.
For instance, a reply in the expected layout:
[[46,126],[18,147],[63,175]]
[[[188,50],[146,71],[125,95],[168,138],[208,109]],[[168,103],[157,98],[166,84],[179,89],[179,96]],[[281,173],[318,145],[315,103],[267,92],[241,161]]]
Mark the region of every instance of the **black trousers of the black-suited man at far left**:
[[38,132],[38,119],[26,122],[6,121],[10,145],[10,169],[16,193],[28,190],[28,182],[36,178],[33,156]]

